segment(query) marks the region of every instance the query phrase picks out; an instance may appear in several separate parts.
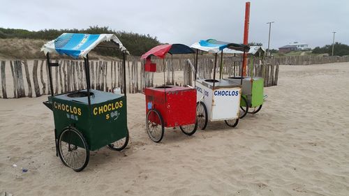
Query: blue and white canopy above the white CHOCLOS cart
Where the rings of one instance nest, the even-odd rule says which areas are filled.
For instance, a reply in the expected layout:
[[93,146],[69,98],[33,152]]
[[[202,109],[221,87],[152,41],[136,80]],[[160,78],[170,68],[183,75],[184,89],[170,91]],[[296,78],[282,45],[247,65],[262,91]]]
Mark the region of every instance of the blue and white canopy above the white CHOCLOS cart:
[[214,39],[200,40],[200,42],[193,43],[192,48],[202,50],[210,53],[217,53],[223,51],[225,48],[231,50],[238,50],[242,52],[247,52],[249,50],[248,45],[237,44],[237,43],[227,43],[223,41],[218,41]]

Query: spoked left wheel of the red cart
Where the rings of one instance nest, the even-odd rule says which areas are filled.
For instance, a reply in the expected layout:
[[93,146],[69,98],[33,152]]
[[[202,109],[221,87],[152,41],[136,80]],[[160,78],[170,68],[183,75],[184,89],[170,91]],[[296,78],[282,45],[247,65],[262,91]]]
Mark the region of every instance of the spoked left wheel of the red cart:
[[163,126],[163,116],[161,116],[158,110],[149,110],[145,123],[147,123],[147,132],[151,140],[154,142],[160,142],[163,140],[165,128]]

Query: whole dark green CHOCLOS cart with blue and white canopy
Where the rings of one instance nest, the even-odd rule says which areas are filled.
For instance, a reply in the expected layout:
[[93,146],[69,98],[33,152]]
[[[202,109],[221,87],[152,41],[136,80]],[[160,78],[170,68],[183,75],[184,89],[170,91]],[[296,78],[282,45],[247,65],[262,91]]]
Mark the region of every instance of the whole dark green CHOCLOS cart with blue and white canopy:
[[[56,156],[67,167],[80,172],[89,163],[89,151],[103,146],[121,151],[128,144],[126,110],[126,77],[124,94],[108,93],[91,89],[89,55],[95,47],[119,49],[123,54],[124,70],[127,50],[113,34],[63,33],[42,47],[47,57],[51,96],[44,104],[54,116]],[[50,53],[66,54],[84,59],[87,89],[53,94]]]

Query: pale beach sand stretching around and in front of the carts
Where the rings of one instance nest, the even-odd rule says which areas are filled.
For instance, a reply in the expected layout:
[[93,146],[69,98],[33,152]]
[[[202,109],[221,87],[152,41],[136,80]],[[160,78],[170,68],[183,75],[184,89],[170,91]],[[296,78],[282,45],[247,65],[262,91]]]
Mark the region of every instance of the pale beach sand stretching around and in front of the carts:
[[131,94],[128,147],[92,152],[80,173],[55,156],[47,96],[0,99],[0,193],[349,195],[348,86],[349,63],[281,66],[262,110],[237,128],[167,129],[160,144],[145,130],[144,95]]

